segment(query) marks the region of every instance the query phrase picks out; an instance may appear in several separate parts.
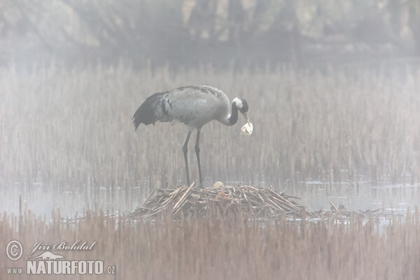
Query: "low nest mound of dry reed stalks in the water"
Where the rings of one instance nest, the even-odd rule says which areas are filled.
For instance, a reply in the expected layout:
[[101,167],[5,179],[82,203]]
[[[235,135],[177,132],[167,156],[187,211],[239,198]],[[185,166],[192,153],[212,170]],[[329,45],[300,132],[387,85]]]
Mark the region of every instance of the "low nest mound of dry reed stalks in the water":
[[209,213],[228,215],[241,212],[249,217],[296,217],[309,214],[295,202],[298,197],[276,193],[272,188],[254,186],[223,186],[215,183],[208,188],[178,186],[175,189],[155,189],[142,207],[133,211],[130,218],[156,218],[172,214],[174,218],[199,218]]

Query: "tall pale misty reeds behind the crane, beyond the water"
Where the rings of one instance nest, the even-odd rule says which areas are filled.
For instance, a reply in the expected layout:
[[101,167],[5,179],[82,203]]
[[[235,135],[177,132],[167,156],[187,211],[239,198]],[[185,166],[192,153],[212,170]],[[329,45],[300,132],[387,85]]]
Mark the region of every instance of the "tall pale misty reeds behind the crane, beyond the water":
[[[197,71],[58,66],[0,69],[0,179],[59,190],[155,187],[185,180],[183,125],[134,132],[148,95],[181,85],[221,88],[248,100],[251,137],[210,123],[202,131],[205,182],[308,179],[414,183],[420,175],[420,72]],[[192,150],[191,150],[192,151]],[[197,178],[193,153],[191,176]]]

